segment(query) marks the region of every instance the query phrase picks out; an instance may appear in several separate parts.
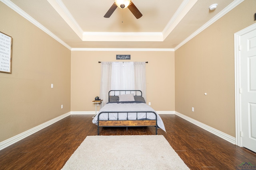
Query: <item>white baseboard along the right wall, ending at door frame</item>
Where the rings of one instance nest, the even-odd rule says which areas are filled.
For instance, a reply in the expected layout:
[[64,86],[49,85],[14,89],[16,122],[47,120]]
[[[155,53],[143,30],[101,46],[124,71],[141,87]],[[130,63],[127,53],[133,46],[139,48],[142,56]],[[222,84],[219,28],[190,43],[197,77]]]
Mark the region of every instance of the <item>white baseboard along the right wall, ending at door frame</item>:
[[214,135],[217,135],[218,137],[220,137],[220,138],[222,138],[222,139],[224,139],[224,140],[226,140],[226,141],[228,141],[228,142],[230,142],[230,143],[232,143],[234,145],[236,144],[236,138],[235,137],[232,137],[232,136],[230,136],[230,135],[228,135],[226,133],[223,133],[222,131],[219,131],[217,129],[214,129],[213,127],[205,125],[204,123],[201,123],[201,122],[199,122],[199,121],[197,121],[195,119],[192,119],[192,118],[190,118],[190,117],[188,117],[186,115],[183,115],[183,114],[181,114],[181,113],[179,113],[177,111],[175,111],[175,115],[177,115],[177,116],[179,116],[179,117],[189,121],[190,123],[193,123],[194,125],[197,125],[198,127],[201,127],[202,129],[204,129],[204,130],[206,130],[206,131],[208,131],[208,132],[210,132],[210,133],[212,133]]

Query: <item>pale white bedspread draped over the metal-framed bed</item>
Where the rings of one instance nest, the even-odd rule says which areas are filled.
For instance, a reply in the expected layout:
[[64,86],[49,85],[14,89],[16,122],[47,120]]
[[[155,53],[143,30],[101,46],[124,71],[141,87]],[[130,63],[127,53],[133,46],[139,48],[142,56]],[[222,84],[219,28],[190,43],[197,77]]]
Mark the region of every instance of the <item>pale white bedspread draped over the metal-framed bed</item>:
[[[108,103],[104,107],[100,109],[102,111],[156,111],[152,109],[152,107],[148,106],[145,103]],[[157,114],[157,113],[156,113]],[[109,113],[110,120],[117,120],[117,113]],[[146,113],[138,113],[138,119],[145,119]],[[156,116],[154,113],[147,113],[147,119],[155,119]],[[126,120],[127,113],[119,113],[118,114],[119,120]],[[136,113],[129,113],[128,114],[129,120],[136,120]],[[100,120],[108,120],[108,113],[100,114]],[[92,123],[98,123],[98,114],[92,119]],[[157,125],[161,129],[165,130],[164,122],[162,121],[161,117],[157,114]]]

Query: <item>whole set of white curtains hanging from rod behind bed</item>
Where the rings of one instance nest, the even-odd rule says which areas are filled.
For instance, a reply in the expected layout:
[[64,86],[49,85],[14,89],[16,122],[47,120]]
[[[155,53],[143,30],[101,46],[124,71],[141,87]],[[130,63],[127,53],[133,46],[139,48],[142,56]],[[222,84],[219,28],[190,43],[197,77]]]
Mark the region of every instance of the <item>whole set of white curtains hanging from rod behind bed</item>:
[[108,102],[110,90],[141,90],[146,101],[145,62],[102,62],[100,107]]

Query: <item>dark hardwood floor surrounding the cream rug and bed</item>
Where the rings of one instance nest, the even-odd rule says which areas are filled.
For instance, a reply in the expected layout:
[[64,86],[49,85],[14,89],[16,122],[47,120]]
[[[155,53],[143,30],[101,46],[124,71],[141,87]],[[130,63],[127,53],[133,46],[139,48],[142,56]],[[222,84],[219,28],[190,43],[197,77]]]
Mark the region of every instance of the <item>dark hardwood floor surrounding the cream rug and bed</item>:
[[[164,135],[191,170],[236,170],[244,162],[256,166],[254,152],[233,145],[176,115],[160,116],[166,133],[158,129],[158,135]],[[154,127],[129,127],[128,131],[125,127],[100,129],[100,135],[154,133]],[[0,150],[0,169],[59,170],[86,136],[91,135],[97,135],[92,115],[70,115]]]

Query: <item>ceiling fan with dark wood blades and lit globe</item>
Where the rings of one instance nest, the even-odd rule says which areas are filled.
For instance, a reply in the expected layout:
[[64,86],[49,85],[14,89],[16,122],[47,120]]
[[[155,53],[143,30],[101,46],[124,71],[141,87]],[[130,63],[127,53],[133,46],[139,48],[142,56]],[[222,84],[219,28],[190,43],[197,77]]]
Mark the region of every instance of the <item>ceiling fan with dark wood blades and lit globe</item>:
[[115,0],[114,4],[109,8],[104,17],[109,18],[117,7],[122,9],[128,8],[137,19],[142,17],[142,14],[131,0]]

